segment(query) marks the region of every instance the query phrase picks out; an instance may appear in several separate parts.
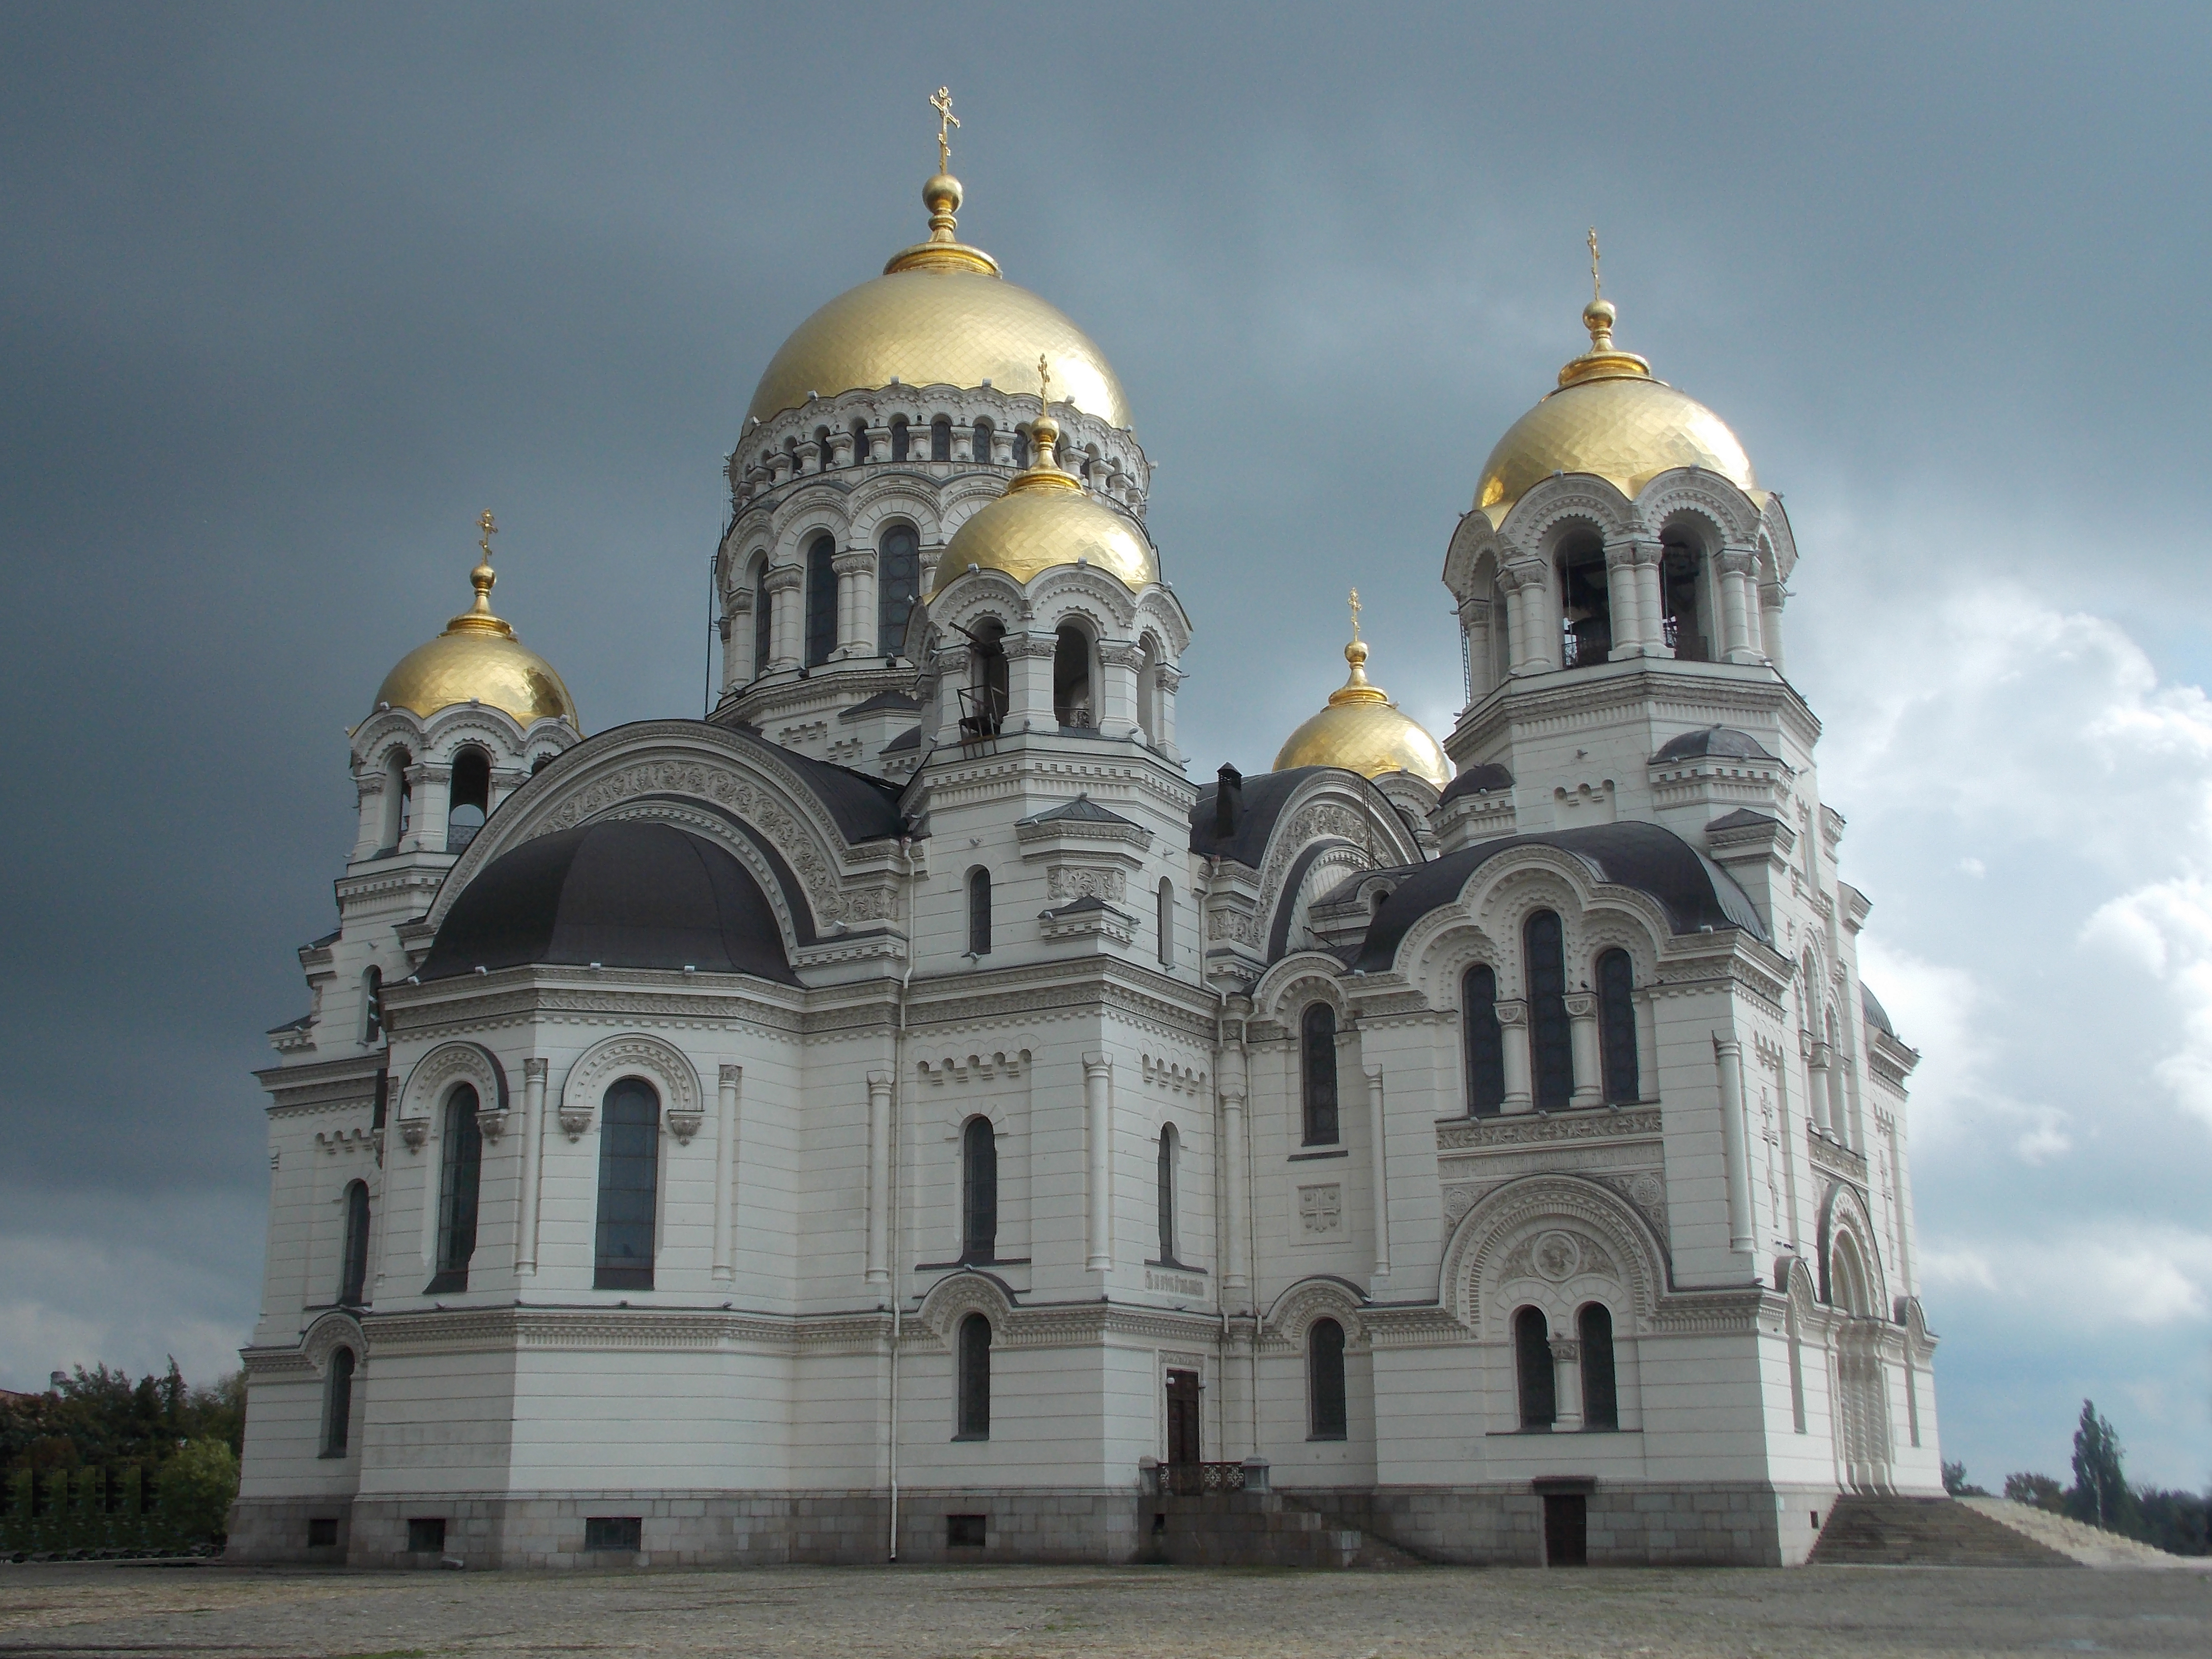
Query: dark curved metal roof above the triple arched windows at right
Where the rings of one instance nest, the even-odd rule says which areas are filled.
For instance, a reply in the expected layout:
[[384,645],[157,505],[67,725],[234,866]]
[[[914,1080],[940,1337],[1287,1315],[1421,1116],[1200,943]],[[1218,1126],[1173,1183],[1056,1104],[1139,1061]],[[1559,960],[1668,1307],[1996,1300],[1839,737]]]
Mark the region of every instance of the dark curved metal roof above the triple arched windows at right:
[[1579,858],[1595,880],[1650,894],[1666,907],[1668,925],[1677,933],[1732,927],[1756,940],[1767,938],[1750,894],[1672,830],[1661,830],[1655,823],[1599,823],[1588,830],[1546,830],[1533,836],[1480,841],[1433,863],[1411,865],[1376,909],[1354,967],[1369,973],[1387,969],[1413,922],[1440,905],[1449,905],[1475,869],[1515,847],[1557,847]]

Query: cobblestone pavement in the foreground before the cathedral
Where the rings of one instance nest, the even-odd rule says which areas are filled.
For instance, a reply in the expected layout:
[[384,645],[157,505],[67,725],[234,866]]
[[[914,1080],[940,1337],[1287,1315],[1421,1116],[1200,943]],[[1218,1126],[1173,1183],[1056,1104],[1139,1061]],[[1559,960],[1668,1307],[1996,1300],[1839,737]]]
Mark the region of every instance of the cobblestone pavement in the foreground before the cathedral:
[[2084,1568],[343,1573],[0,1566],[0,1659],[2212,1652],[2212,1575]]

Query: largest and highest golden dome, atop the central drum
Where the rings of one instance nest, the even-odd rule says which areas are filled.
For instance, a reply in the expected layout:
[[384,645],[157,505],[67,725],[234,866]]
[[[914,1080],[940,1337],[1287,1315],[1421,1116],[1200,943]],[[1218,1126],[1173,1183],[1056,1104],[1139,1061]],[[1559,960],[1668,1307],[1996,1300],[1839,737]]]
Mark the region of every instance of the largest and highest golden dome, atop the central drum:
[[940,173],[922,186],[929,241],[891,254],[883,276],[823,305],[783,343],[761,374],[750,414],[768,420],[810,392],[834,398],[856,387],[1026,385],[1037,356],[1053,365],[1060,400],[1128,427],[1128,400],[1113,365],[1055,305],[998,274],[980,248],[953,241],[960,181]]

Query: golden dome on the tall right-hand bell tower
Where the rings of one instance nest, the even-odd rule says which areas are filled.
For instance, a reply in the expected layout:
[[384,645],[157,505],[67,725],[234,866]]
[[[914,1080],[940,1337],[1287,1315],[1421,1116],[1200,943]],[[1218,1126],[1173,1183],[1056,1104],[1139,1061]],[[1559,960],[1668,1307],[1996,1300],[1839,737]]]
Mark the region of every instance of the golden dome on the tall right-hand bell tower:
[[1590,349],[1559,369],[1557,389],[1515,420],[1482,462],[1475,507],[1491,524],[1553,473],[1595,473],[1635,495],[1670,467],[1703,467],[1736,489],[1759,489],[1750,456],[1721,416],[1652,378],[1644,358],[1613,347],[1613,316],[1604,299],[1584,307]]

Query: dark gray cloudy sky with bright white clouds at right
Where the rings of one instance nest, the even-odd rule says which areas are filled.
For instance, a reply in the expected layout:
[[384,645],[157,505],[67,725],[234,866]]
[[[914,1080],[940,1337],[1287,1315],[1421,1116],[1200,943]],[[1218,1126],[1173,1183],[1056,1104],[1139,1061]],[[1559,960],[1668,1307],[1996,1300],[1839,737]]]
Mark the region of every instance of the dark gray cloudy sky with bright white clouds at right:
[[0,1385],[226,1365],[345,732],[467,597],[699,708],[719,460],[922,230],[1108,352],[1199,770],[1442,732],[1444,540],[1579,349],[1719,409],[1927,1048],[1947,1455],[2212,1475],[2203,7],[0,7]]

